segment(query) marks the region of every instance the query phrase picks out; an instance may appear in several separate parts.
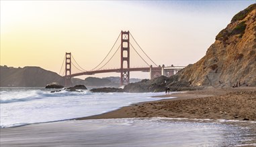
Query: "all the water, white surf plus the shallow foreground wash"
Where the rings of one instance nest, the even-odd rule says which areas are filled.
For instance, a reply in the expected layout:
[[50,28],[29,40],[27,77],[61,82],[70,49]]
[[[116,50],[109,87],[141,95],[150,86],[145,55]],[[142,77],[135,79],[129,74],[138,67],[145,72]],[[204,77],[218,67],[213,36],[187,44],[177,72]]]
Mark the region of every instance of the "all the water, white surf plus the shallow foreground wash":
[[51,91],[1,88],[1,146],[256,146],[256,122],[185,118],[70,120],[161,100],[151,96],[164,93]]

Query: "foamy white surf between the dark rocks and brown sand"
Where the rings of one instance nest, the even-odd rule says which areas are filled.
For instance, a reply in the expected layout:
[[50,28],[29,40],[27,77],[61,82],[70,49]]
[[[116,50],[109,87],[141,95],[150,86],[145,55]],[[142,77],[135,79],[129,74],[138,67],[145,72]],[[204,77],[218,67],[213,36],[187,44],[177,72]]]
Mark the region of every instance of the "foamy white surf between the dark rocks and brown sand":
[[51,93],[45,88],[1,88],[1,128],[93,116],[151,98],[159,93]]

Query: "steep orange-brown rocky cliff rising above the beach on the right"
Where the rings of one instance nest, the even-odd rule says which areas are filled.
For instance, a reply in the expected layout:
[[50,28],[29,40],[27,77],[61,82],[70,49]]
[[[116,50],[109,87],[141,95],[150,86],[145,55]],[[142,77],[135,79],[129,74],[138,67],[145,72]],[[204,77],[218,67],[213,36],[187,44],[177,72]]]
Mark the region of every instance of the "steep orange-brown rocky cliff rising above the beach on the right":
[[169,86],[256,86],[256,4],[234,15],[206,55],[170,78]]

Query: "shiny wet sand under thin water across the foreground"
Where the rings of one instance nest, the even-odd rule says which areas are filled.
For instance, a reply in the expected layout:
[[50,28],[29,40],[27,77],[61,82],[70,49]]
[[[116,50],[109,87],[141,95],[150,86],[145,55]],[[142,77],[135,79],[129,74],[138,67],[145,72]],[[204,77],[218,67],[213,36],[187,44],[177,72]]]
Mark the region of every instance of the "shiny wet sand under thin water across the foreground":
[[[255,146],[254,123],[165,118],[69,120],[1,128],[1,147]],[[210,136],[210,137],[209,137]]]

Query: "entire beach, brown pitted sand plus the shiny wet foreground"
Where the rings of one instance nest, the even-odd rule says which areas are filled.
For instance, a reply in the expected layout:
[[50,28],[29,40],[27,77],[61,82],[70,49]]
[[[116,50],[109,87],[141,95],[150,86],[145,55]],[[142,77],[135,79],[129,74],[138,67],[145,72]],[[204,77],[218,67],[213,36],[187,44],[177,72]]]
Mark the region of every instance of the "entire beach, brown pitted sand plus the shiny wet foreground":
[[0,128],[1,146],[255,146],[255,96],[255,88],[163,94],[157,97],[171,98],[75,120]]

